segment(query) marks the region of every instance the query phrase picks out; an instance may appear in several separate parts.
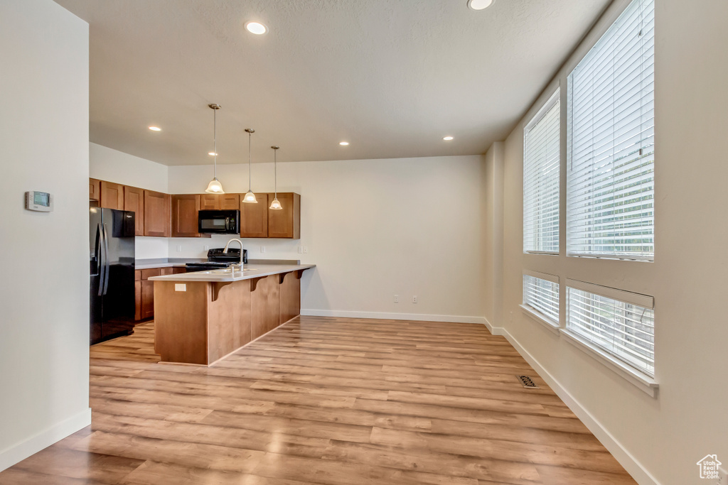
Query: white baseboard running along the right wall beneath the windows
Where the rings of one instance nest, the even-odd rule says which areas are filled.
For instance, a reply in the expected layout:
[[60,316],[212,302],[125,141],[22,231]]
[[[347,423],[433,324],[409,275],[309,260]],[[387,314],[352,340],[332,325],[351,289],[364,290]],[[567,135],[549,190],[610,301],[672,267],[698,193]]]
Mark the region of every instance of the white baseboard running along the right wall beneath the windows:
[[[490,325],[490,324],[486,324]],[[507,329],[503,327],[496,327],[491,329],[490,326],[488,326],[488,329],[491,330],[491,333],[494,335],[503,335],[508,342],[510,342],[511,345],[515,348],[515,350],[518,350],[518,353],[521,354],[523,358],[526,359],[526,361],[529,363],[531,367],[534,368],[536,372],[538,372],[539,376],[542,377],[543,380],[546,381],[548,385],[553,389],[553,391],[558,395],[558,397],[561,398],[561,400],[566,404],[566,406],[569,406],[569,409],[571,409],[574,414],[577,415],[579,420],[581,420],[584,425],[589,428],[589,430],[596,436],[596,438],[601,441],[601,444],[604,445],[604,447],[609,450],[610,453],[614,456],[614,458],[617,459],[618,462],[620,462],[620,465],[627,470],[627,472],[632,476],[632,478],[637,481],[639,485],[660,485],[660,482],[657,481],[657,478],[654,478],[652,474],[647,471],[640,462],[636,460],[636,458],[628,452],[622,444],[617,441],[614,436],[612,436],[612,433],[609,433],[609,430],[606,430],[604,426],[599,422],[596,417],[594,417],[587,409],[585,409],[584,406],[582,406],[579,401],[577,401],[574,396],[571,396],[571,393],[569,393],[566,388],[564,388],[558,380],[553,377],[552,374],[550,374],[544,367],[537,361],[534,356],[529,353],[528,350],[523,348],[523,345],[521,345],[518,340],[511,335]]]

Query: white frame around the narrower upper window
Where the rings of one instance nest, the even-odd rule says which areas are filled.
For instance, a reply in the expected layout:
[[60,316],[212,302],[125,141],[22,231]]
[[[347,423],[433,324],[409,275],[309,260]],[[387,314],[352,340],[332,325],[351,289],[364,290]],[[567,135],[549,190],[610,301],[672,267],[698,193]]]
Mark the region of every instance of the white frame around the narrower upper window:
[[[540,251],[538,249],[531,249],[533,246],[538,246],[537,239],[539,238],[539,231],[536,231],[533,233],[533,236],[535,236],[537,239],[536,241],[528,241],[527,235],[529,235],[529,231],[526,229],[526,223],[529,220],[529,215],[526,214],[526,211],[528,210],[528,204],[529,201],[527,200],[528,192],[526,191],[526,181],[527,181],[527,169],[526,167],[526,158],[527,158],[527,151],[528,151],[528,143],[529,143],[529,133],[531,132],[531,129],[533,129],[537,124],[539,124],[540,121],[542,121],[547,113],[551,111],[551,108],[553,108],[555,105],[558,105],[558,132],[557,132],[557,140],[556,144],[558,145],[558,161],[556,163],[556,187],[555,187],[555,196],[556,196],[556,250],[555,251]],[[537,215],[531,215],[530,217],[538,217]],[[531,244],[528,244],[531,243]],[[529,245],[529,248],[526,248],[526,245]],[[526,124],[526,127],[523,128],[523,252],[526,254],[559,254],[559,249],[561,246],[561,87],[557,87],[553,95],[549,97],[547,102],[539,109],[539,111],[536,113],[536,115],[531,118],[531,121],[529,121]]]

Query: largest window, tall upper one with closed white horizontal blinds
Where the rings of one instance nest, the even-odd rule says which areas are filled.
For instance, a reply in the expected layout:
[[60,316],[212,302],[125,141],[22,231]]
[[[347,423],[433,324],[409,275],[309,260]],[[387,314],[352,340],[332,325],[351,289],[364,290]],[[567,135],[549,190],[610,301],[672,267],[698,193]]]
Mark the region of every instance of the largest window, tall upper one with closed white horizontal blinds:
[[566,251],[654,259],[654,0],[634,0],[569,75]]

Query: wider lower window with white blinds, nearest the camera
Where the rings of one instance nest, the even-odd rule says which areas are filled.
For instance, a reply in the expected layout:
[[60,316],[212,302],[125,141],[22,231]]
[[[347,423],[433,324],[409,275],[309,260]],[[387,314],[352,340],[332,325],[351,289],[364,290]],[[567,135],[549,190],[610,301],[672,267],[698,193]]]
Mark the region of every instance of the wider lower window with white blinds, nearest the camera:
[[582,281],[566,285],[566,330],[654,377],[652,297]]

